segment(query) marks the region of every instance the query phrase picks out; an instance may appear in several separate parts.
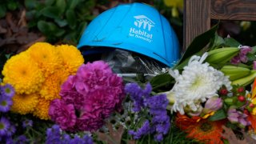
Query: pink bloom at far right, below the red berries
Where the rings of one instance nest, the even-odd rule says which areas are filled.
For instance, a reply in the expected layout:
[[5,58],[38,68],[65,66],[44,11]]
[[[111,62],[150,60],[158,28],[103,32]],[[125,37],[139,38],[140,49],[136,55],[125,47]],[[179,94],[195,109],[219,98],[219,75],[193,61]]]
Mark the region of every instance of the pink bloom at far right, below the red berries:
[[238,126],[244,128],[245,126],[250,126],[250,122],[247,121],[248,115],[243,114],[234,108],[228,110],[228,119],[231,123],[238,123]]

